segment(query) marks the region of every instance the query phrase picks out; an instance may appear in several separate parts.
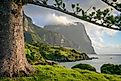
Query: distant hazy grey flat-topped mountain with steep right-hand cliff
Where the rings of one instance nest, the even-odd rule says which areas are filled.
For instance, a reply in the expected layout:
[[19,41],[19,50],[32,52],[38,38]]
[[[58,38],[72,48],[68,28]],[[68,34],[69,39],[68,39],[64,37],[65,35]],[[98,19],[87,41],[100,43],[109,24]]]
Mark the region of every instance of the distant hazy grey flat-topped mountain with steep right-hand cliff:
[[[74,48],[79,51],[83,51],[88,54],[95,53],[92,42],[86,33],[85,26],[82,23],[75,22],[74,24],[68,25],[46,25],[44,29],[63,35],[70,42],[74,43],[74,45],[76,45]],[[65,45],[63,44],[63,46]]]

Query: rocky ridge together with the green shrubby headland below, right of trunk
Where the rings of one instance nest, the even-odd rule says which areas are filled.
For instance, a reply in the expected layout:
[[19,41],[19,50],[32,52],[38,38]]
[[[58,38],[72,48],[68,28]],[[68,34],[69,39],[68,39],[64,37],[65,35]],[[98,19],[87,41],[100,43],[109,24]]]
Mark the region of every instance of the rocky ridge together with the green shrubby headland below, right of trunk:
[[26,57],[31,64],[46,64],[47,60],[70,62],[90,59],[86,53],[60,46],[62,39],[67,47],[70,47],[70,42],[59,33],[34,25],[27,16],[24,18],[24,35]]

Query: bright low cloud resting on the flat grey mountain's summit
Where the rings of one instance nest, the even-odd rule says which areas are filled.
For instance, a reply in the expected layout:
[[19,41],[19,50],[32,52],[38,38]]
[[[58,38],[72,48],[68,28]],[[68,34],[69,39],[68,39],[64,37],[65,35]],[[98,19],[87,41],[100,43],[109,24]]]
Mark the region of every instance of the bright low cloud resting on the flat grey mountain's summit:
[[74,22],[74,20],[66,16],[57,15],[55,13],[45,14],[45,16],[37,16],[37,17],[35,16],[32,18],[32,20],[38,26],[57,25],[57,24],[67,25],[69,23]]

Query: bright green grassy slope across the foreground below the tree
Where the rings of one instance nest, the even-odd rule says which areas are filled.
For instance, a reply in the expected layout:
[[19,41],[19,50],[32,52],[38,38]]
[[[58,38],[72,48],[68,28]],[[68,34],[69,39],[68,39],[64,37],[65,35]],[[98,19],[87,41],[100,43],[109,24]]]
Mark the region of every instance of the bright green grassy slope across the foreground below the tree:
[[121,81],[121,76],[100,74],[61,66],[34,66],[37,73],[30,77],[0,78],[0,81]]

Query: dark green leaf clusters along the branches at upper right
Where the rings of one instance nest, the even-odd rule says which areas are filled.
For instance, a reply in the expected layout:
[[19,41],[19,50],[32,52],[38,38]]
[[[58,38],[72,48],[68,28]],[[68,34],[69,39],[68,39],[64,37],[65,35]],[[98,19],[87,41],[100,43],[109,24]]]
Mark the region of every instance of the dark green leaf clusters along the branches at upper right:
[[[116,10],[121,12],[121,3],[118,3],[118,1],[113,0],[113,1],[108,1],[108,0],[102,0],[103,2],[105,2],[106,4],[108,4],[109,6],[112,6],[113,8],[115,8]],[[55,0],[56,6],[58,6],[58,8],[61,8],[63,1],[62,0]],[[65,8],[65,4],[64,4],[64,8]],[[104,26],[106,28],[110,28],[110,29],[114,29],[114,30],[120,30],[121,29],[121,16],[114,16],[111,14],[112,12],[112,8],[107,8],[105,10],[101,10],[101,9],[96,9],[96,7],[93,7],[93,10],[91,13],[89,13],[89,9],[91,9],[91,7],[85,11],[80,7],[80,4],[71,4],[71,8],[73,10],[73,12],[69,11],[66,9],[66,13],[68,14],[71,13],[72,16],[75,16],[79,19],[91,22],[93,24],[96,25],[100,25],[100,26]],[[61,11],[61,10],[59,10]],[[114,28],[114,26],[117,26],[117,28]]]

